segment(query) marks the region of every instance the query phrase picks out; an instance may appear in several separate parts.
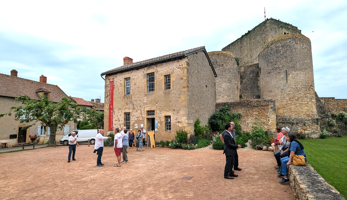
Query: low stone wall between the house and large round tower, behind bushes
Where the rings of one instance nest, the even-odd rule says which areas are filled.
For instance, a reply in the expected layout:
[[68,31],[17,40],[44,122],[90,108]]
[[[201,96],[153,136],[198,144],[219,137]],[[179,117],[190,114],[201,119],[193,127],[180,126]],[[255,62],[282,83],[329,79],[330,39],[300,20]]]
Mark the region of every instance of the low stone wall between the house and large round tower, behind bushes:
[[264,130],[274,132],[276,128],[276,106],[274,100],[254,99],[216,103],[216,112],[220,107],[229,106],[231,112],[239,112],[242,132],[251,132],[255,118],[262,121]]

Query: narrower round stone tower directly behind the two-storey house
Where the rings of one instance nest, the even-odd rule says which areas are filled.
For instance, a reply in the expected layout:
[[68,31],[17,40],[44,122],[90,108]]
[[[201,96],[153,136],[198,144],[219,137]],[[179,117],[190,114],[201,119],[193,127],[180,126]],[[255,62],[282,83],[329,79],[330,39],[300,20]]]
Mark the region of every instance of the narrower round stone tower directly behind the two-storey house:
[[217,102],[238,101],[240,95],[240,67],[235,55],[228,51],[209,52],[210,60],[217,73]]

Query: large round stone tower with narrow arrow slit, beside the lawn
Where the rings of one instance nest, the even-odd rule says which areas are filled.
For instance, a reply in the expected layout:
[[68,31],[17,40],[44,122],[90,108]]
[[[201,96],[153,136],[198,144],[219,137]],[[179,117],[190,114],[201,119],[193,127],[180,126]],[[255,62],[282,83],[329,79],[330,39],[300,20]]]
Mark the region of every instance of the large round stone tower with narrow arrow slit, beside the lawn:
[[311,41],[302,34],[271,40],[259,53],[262,99],[276,100],[278,127],[318,137]]

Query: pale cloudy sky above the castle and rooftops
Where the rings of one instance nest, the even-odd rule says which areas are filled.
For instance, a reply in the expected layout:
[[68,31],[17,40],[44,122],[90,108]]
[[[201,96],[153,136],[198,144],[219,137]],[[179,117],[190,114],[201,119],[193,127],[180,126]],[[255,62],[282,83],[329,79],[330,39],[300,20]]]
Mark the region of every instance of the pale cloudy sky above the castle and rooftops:
[[[100,74],[205,46],[221,49],[266,17],[310,38],[319,97],[347,99],[347,1],[1,1],[0,73],[104,101]],[[0,80],[1,81],[1,80]]]

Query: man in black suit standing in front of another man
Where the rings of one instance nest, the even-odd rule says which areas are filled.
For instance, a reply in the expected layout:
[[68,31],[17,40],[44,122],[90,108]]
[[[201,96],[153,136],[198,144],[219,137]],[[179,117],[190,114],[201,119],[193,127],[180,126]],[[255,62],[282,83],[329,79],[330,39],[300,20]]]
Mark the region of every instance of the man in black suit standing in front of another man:
[[[234,127],[232,127],[234,128]],[[231,131],[232,131],[230,123],[225,125],[225,131],[224,132],[224,151],[223,154],[225,154],[225,168],[224,168],[224,178],[225,179],[234,179],[234,177],[237,177],[237,174],[234,174],[232,172],[232,166],[234,165],[234,155],[237,153],[236,149],[240,148],[241,145],[236,145],[235,140],[232,137]]]

